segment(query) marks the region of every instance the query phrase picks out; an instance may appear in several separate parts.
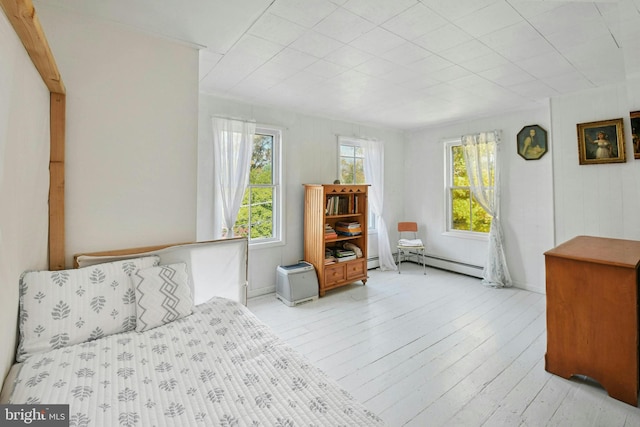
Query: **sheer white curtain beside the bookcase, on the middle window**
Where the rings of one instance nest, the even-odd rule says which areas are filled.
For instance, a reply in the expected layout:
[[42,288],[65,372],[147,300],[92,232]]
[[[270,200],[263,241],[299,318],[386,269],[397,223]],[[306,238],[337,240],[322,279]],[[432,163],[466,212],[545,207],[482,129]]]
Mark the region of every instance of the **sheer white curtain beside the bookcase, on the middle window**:
[[379,141],[363,141],[364,148],[364,176],[369,187],[369,206],[376,217],[378,231],[378,257],[380,270],[397,270],[391,247],[387,225],[382,218],[384,201],[384,146]]

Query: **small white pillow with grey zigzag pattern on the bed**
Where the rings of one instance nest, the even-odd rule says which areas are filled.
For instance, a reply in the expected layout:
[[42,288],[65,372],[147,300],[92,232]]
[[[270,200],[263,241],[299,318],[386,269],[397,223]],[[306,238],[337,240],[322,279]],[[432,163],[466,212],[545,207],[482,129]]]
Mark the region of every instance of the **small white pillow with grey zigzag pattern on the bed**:
[[192,313],[188,277],[184,262],[140,269],[131,276],[136,290],[136,331],[153,329]]

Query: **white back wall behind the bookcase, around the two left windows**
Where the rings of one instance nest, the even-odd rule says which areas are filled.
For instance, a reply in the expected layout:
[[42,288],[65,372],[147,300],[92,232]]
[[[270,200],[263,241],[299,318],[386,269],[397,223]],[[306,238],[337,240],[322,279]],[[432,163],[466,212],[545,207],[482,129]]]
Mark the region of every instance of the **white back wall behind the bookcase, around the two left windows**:
[[[338,135],[375,138],[385,145],[385,220],[395,230],[404,196],[403,134],[337,120],[236,102],[206,94],[200,96],[199,139],[212,138],[211,116],[256,120],[283,131],[283,185],[285,239],[282,246],[250,249],[249,295],[275,290],[276,267],[292,264],[304,256],[302,184],[328,184],[338,178]],[[392,240],[393,241],[393,240]]]

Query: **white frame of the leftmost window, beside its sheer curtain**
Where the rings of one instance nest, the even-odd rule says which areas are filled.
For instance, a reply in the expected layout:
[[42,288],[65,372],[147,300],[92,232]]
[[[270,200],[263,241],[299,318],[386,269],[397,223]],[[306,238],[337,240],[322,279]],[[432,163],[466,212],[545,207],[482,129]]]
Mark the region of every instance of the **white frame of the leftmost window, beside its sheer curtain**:
[[[251,184],[247,183],[247,188],[245,191],[250,191],[252,188],[273,188],[273,237],[271,238],[260,238],[260,239],[251,239],[250,236],[247,236],[247,242],[249,244],[249,248],[267,248],[271,246],[282,246],[285,244],[284,237],[284,197],[283,197],[283,174],[282,174],[282,164],[283,158],[282,153],[284,152],[282,148],[282,129],[277,128],[275,126],[261,125],[256,124],[255,134],[260,135],[269,135],[273,137],[273,148],[272,148],[272,179],[273,182],[270,185],[266,184]],[[249,223],[251,223],[251,208],[249,208]],[[235,224],[234,224],[235,227]]]

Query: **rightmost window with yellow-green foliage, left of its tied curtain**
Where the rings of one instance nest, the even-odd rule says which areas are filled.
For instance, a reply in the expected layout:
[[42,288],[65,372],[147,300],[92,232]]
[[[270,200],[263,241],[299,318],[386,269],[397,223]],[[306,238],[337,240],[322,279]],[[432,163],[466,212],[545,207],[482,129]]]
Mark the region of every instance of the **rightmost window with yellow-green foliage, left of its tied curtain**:
[[[461,141],[445,144],[447,159],[447,231],[489,233],[491,216],[471,194]],[[493,155],[484,153],[484,155]],[[493,183],[485,183],[493,185]]]

